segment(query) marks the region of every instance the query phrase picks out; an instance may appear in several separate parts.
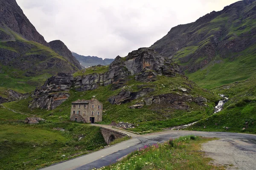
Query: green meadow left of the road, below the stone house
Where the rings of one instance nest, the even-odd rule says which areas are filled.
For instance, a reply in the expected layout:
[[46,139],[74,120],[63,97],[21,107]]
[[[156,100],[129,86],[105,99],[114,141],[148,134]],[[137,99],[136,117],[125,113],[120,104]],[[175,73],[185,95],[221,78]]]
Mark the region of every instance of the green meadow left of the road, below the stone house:
[[2,170],[39,169],[106,145],[99,127],[68,121],[28,125],[23,123],[25,115],[4,108],[0,108],[0,117]]

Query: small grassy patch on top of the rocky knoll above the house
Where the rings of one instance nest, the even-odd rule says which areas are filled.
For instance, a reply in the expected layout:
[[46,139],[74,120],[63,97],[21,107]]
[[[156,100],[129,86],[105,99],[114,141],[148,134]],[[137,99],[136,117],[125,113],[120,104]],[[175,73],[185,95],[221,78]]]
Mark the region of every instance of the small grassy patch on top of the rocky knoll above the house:
[[85,68],[84,70],[81,71],[77,71],[76,73],[74,73],[74,77],[77,76],[85,76],[88,74],[104,74],[105,72],[108,71],[108,65],[106,66],[92,66],[90,68]]

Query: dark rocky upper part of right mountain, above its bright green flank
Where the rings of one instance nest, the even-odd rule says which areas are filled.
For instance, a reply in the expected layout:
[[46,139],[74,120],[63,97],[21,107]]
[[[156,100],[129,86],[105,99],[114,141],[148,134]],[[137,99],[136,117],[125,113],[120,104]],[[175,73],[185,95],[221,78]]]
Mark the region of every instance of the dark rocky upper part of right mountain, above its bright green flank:
[[234,53],[256,43],[256,27],[248,24],[256,19],[255,9],[255,0],[238,1],[194,23],[172,28],[150,48],[182,64],[189,72],[204,68],[216,55],[233,61]]

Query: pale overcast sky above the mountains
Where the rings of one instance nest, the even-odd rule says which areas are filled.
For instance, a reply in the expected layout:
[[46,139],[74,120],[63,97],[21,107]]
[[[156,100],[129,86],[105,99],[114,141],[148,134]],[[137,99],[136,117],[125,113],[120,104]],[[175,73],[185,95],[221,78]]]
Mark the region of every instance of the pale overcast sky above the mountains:
[[78,54],[115,58],[238,0],[16,1],[47,42],[61,40]]

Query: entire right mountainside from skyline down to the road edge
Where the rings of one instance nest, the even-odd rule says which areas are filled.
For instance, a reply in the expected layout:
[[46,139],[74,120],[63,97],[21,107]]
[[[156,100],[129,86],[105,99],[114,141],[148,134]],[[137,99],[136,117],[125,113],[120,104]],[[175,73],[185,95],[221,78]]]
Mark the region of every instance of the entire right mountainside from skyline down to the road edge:
[[242,0],[172,28],[154,48],[200,87],[224,94],[224,109],[190,130],[256,131],[256,1]]

